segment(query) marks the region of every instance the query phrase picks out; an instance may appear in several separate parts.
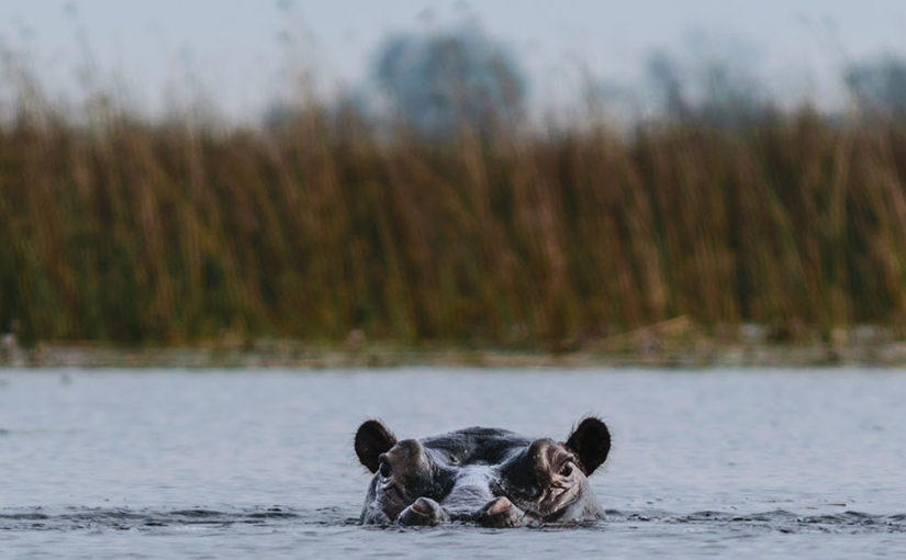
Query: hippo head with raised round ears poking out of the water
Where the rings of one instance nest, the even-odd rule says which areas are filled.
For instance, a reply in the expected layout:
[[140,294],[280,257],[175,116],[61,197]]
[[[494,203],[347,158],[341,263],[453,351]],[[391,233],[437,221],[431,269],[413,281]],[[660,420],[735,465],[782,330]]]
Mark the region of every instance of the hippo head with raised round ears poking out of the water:
[[611,433],[596,417],[583,418],[566,443],[483,427],[398,440],[369,419],[355,449],[373,473],[366,525],[519,527],[604,516],[588,481],[611,450]]

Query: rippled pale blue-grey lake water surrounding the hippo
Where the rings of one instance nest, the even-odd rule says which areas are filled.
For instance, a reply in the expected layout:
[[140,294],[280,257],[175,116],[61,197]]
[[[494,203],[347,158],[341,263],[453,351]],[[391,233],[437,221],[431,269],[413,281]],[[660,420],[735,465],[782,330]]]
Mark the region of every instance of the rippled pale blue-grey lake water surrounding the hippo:
[[[614,444],[578,528],[356,524],[368,417]],[[906,372],[0,370],[0,558],[906,553]]]

